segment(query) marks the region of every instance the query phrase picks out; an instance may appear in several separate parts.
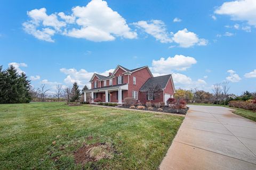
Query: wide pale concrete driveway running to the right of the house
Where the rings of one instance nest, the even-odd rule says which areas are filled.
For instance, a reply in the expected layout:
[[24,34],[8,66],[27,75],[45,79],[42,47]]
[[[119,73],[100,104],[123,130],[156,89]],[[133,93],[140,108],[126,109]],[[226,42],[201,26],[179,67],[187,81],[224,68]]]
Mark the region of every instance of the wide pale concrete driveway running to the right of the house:
[[256,123],[218,106],[190,107],[160,169],[256,169]]

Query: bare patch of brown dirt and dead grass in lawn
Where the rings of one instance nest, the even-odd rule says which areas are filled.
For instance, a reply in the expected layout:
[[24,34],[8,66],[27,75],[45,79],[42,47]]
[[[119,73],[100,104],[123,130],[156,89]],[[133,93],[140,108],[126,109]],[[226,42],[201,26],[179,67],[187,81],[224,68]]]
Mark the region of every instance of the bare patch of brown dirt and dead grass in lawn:
[[114,157],[114,149],[109,143],[94,143],[84,145],[74,152],[76,164],[97,162],[100,159],[111,159]]

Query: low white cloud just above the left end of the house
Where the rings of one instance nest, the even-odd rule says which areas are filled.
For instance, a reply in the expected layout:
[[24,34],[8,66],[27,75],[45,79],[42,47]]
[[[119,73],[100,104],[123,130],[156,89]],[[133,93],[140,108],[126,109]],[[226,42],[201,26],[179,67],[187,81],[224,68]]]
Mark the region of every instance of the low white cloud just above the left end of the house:
[[[108,76],[108,73],[113,72],[113,71],[114,71],[114,69],[110,69],[110,70],[107,70],[105,72],[98,73],[98,74]],[[77,71],[74,68],[73,69],[62,68],[62,69],[60,69],[60,72],[67,75],[67,77],[64,79],[64,82],[67,84],[77,82],[78,85],[83,86],[86,84],[87,86],[91,87],[89,81],[92,78],[92,75],[94,72],[87,72],[84,69]]]

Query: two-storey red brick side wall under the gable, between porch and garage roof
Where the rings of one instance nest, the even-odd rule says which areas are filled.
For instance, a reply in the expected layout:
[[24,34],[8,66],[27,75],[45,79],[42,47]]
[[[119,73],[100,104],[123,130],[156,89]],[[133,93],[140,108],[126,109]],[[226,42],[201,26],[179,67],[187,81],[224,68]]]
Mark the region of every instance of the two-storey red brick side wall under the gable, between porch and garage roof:
[[[133,77],[136,77],[136,85],[133,85]],[[129,84],[128,84],[128,97],[132,97],[132,91],[138,91],[138,99],[140,98],[140,88],[141,86],[149,79],[151,75],[147,68],[141,69],[139,71],[133,72],[129,75]],[[146,98],[146,97],[145,97]]]

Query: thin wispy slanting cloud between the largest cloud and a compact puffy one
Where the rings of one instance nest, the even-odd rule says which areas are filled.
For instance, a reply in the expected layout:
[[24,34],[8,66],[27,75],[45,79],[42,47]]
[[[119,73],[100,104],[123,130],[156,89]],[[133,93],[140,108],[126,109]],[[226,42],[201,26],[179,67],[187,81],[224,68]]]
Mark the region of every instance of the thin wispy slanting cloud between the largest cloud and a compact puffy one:
[[166,25],[161,20],[139,21],[133,23],[138,28],[159,40],[161,43],[172,43],[171,34],[167,32]]

